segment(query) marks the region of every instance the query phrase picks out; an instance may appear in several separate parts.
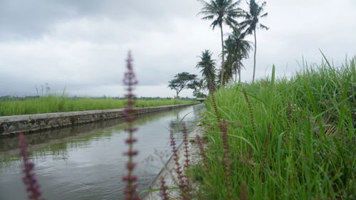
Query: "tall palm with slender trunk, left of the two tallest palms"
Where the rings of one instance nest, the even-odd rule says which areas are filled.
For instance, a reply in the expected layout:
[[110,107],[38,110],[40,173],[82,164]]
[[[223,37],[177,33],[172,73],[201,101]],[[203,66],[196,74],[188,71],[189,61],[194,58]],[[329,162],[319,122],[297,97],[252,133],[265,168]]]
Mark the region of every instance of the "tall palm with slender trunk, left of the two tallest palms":
[[235,19],[239,16],[242,16],[242,10],[237,8],[237,5],[241,0],[233,2],[233,0],[210,0],[210,4],[206,1],[200,0],[203,4],[203,8],[198,14],[203,14],[204,17],[201,19],[209,19],[213,20],[211,23],[211,27],[214,28],[216,26],[220,27],[221,31],[221,86],[223,86],[223,78],[224,74],[224,38],[223,38],[223,30],[222,25],[226,23],[230,26],[236,23]]

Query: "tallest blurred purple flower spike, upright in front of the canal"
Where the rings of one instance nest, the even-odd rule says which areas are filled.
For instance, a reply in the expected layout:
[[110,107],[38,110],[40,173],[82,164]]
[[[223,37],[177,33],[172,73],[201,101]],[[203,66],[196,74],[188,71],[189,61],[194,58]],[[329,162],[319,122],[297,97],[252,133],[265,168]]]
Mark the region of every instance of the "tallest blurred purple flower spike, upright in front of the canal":
[[137,151],[133,149],[133,144],[137,142],[137,140],[133,137],[133,132],[137,130],[137,128],[133,127],[133,122],[136,120],[136,117],[134,116],[136,113],[136,110],[132,108],[132,106],[135,104],[135,95],[132,94],[133,86],[137,84],[137,80],[135,78],[135,73],[132,70],[132,57],[131,53],[129,51],[127,60],[126,60],[126,67],[127,67],[127,73],[125,73],[125,78],[123,80],[124,84],[127,86],[127,94],[125,97],[127,98],[127,104],[125,110],[122,112],[123,115],[125,115],[125,121],[127,122],[127,127],[125,128],[125,131],[129,133],[129,137],[125,140],[125,143],[129,146],[129,149],[127,152],[124,153],[125,156],[129,158],[128,162],[126,163],[126,169],[127,169],[127,176],[122,178],[122,181],[126,181],[127,185],[125,186],[124,194],[126,195],[125,199],[127,200],[138,200],[140,199],[139,196],[137,196],[136,193],[136,188],[137,184],[134,184],[135,181],[137,181],[137,177],[133,174],[133,170],[136,167],[135,162],[133,162],[133,157],[137,155]]

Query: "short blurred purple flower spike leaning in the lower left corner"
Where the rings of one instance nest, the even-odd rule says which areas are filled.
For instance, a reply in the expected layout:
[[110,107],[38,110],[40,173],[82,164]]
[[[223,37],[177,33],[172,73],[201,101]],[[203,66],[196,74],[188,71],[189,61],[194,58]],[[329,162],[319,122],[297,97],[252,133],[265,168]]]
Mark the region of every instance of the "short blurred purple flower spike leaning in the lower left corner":
[[[28,152],[25,142],[25,136],[21,133],[19,136],[19,143],[21,152],[20,155],[23,158],[23,174],[22,177],[23,184],[26,185],[26,191],[28,194],[28,199],[39,200],[41,197],[40,185],[37,183],[37,176],[33,171],[35,164],[28,160]],[[44,199],[41,199],[44,200]]]

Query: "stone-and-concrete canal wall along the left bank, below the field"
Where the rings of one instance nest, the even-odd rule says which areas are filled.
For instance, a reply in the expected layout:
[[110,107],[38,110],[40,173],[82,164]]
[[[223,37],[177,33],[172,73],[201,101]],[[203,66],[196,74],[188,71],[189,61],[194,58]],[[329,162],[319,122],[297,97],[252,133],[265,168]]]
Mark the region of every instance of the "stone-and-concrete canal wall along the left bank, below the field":
[[[162,110],[184,107],[188,105],[194,104],[135,107],[135,110],[137,111],[136,115],[140,115],[150,112],[159,112]],[[122,115],[123,110],[124,109],[89,110],[4,116],[0,117],[0,137],[16,135],[20,132],[38,132],[60,127],[68,127],[72,125],[80,125],[89,122],[124,117]]]

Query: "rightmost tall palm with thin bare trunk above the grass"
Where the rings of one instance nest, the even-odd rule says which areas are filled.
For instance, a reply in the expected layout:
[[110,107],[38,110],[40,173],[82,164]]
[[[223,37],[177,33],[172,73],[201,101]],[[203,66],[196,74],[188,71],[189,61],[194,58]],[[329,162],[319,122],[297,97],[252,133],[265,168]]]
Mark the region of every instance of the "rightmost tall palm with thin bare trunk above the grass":
[[253,56],[253,78],[252,78],[252,83],[255,80],[255,72],[256,72],[256,27],[259,25],[260,28],[264,28],[268,30],[267,26],[264,26],[262,23],[259,23],[258,20],[262,17],[265,17],[268,15],[268,13],[262,14],[263,13],[263,7],[266,6],[266,1],[263,1],[261,6],[258,6],[255,0],[250,0],[250,3],[248,4],[249,11],[245,11],[244,13],[244,18],[245,21],[242,21],[239,23],[239,26],[242,29],[246,28],[245,33],[247,34],[252,34],[255,37],[255,53]]

